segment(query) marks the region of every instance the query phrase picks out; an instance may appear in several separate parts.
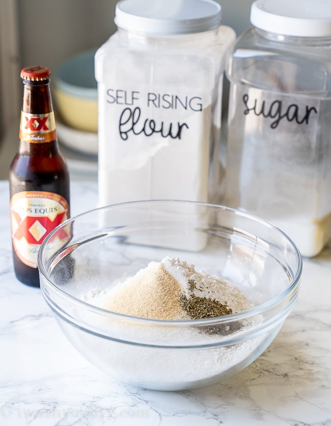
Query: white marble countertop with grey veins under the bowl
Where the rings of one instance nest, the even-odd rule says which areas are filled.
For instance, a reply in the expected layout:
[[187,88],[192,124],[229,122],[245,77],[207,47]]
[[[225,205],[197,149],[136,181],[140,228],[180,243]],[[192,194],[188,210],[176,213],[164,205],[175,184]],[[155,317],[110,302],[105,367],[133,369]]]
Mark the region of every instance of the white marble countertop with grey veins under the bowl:
[[[40,289],[16,279],[5,180],[0,200],[0,425],[331,425],[330,248],[304,259],[298,303],[253,364],[203,389],[148,391],[85,361]],[[97,183],[72,182],[71,205],[96,207]]]

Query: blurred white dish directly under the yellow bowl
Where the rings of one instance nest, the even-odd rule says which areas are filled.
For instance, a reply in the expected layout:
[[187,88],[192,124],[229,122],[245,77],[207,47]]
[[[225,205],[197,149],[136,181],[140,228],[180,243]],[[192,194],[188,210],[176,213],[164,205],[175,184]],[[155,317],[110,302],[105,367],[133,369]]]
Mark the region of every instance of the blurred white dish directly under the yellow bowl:
[[98,155],[98,133],[84,132],[64,125],[56,117],[58,140],[62,145],[89,155]]

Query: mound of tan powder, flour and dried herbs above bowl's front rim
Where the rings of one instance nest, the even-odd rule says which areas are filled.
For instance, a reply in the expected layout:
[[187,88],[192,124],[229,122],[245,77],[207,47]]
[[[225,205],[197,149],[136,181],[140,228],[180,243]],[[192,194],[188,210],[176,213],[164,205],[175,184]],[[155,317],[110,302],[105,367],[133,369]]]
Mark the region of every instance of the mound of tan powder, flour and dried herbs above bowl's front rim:
[[169,256],[92,295],[89,302],[113,312],[160,320],[211,318],[252,307],[236,287]]

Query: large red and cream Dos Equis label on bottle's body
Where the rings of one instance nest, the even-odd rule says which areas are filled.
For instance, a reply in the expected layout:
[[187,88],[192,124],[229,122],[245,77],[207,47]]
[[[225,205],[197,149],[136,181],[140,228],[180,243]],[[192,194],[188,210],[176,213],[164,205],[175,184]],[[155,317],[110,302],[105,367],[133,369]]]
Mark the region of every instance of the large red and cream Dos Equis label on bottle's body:
[[[68,202],[58,194],[45,191],[22,191],[10,200],[14,250],[25,265],[37,268],[41,243],[56,226],[68,219]],[[64,229],[54,244],[63,246],[70,239]]]

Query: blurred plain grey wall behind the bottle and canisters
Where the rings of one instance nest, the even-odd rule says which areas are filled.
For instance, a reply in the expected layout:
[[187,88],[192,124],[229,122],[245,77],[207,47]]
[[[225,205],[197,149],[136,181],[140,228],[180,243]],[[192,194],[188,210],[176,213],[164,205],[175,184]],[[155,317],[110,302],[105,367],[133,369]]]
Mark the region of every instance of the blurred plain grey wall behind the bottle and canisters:
[[[18,69],[41,64],[55,70],[69,56],[99,47],[116,30],[113,20],[117,0],[1,1],[17,2]],[[218,1],[222,6],[223,24],[231,26],[237,35],[250,25],[249,14],[253,0]],[[21,84],[19,75],[13,75],[12,78]],[[2,105],[0,102],[0,108],[5,108],[3,102]],[[0,140],[10,125],[1,120],[2,115],[0,110]]]

